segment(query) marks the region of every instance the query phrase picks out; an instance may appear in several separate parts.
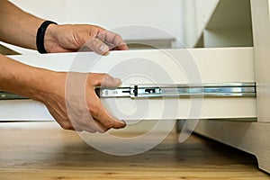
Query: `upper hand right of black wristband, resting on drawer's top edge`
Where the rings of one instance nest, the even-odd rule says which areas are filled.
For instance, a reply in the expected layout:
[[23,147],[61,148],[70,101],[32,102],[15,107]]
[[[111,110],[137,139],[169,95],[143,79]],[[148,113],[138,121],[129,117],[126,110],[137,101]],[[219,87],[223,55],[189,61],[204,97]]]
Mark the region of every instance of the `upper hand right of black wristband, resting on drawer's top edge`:
[[50,24],[44,39],[48,52],[93,50],[106,54],[110,49],[129,49],[121,36],[101,27],[87,24]]

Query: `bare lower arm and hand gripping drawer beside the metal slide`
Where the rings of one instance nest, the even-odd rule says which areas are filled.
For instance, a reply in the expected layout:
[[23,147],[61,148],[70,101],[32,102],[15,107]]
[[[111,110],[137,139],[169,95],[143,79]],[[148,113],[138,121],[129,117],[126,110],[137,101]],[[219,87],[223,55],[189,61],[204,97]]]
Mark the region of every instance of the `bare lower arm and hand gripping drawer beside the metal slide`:
[[97,86],[120,85],[118,78],[106,74],[55,72],[30,67],[1,54],[0,65],[1,90],[44,103],[66,130],[104,132],[126,125],[107,112],[95,94]]

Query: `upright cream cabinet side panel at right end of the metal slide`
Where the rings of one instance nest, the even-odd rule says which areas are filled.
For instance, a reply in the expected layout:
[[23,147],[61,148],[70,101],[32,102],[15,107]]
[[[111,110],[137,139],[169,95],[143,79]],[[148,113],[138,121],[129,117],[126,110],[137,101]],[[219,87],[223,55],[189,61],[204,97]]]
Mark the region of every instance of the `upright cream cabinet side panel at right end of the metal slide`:
[[270,122],[269,0],[251,0],[257,78],[258,121]]

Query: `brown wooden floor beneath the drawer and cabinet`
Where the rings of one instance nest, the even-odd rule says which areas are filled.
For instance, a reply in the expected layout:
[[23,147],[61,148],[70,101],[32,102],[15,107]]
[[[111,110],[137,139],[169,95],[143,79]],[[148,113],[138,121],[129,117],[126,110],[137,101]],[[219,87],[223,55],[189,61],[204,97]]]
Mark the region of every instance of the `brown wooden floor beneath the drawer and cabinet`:
[[178,134],[172,133],[146,153],[116,157],[91,148],[73,131],[4,124],[0,123],[1,180],[270,179],[257,169],[255,157],[196,135],[180,144]]

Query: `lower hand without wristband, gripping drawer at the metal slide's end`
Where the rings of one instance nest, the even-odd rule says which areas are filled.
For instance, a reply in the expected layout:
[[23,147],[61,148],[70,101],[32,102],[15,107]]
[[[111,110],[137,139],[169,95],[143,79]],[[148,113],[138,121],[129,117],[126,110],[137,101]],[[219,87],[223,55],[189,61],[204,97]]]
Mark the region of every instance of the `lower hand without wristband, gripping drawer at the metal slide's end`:
[[125,127],[124,121],[104,109],[94,91],[96,86],[101,85],[116,87],[121,84],[120,79],[94,73],[56,73],[54,76],[57,83],[41,102],[63,129],[104,132]]

